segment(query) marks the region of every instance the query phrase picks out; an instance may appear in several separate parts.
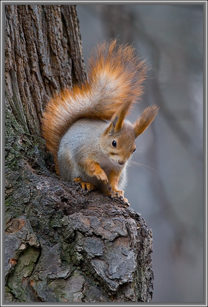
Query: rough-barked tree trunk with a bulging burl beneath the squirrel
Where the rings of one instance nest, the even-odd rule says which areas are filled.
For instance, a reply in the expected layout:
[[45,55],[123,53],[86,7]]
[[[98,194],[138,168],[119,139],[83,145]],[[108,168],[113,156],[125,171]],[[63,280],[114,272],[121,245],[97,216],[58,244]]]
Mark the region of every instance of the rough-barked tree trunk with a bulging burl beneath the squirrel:
[[86,78],[74,5],[5,6],[5,301],[150,302],[152,232],[121,200],[54,174],[51,95]]

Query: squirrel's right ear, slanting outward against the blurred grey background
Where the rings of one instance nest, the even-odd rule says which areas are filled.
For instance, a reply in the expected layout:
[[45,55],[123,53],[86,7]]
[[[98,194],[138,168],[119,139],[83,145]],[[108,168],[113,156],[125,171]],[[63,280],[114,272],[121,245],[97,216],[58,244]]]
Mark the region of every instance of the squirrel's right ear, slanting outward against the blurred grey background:
[[152,121],[156,117],[158,109],[159,108],[156,105],[147,107],[142,113],[142,115],[138,117],[137,120],[133,123],[136,138],[140,134],[142,134],[145,129],[147,129],[147,127],[152,123]]

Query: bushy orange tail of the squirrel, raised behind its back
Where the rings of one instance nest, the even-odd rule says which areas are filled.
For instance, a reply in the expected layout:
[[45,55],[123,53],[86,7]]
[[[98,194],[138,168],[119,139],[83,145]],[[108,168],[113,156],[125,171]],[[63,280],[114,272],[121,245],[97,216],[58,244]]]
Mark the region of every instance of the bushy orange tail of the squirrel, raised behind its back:
[[132,46],[118,46],[116,40],[94,50],[89,60],[88,81],[80,87],[55,95],[43,114],[42,131],[58,172],[57,151],[70,125],[81,118],[111,119],[128,99],[136,102],[143,94],[145,61]]

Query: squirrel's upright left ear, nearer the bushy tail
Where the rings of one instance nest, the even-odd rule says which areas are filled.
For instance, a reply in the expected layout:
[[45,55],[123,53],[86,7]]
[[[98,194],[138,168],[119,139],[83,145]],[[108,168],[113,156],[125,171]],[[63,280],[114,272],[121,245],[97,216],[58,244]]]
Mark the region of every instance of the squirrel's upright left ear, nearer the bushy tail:
[[131,100],[127,100],[123,103],[123,105],[118,109],[118,111],[114,114],[111,120],[111,126],[113,127],[114,132],[121,130],[123,127],[124,119],[128,113],[128,110],[132,104]]

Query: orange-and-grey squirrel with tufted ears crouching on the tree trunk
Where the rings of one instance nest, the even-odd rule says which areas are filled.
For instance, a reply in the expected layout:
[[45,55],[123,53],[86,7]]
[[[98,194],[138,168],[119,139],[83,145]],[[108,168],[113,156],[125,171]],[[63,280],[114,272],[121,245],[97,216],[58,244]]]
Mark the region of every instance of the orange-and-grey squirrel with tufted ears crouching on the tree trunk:
[[136,150],[136,138],[154,120],[158,107],[147,107],[133,124],[126,120],[143,94],[146,62],[131,45],[118,46],[116,40],[94,51],[88,80],[56,94],[47,104],[43,137],[62,180],[88,191],[98,189],[128,204],[122,190],[126,167]]

